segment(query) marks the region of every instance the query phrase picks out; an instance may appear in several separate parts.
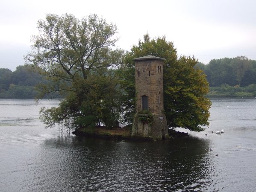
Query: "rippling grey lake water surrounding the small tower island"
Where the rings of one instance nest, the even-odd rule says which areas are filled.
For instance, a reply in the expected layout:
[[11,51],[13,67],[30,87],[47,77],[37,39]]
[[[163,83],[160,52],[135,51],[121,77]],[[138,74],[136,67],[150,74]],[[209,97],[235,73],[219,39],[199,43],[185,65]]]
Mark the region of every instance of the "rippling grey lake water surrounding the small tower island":
[[58,103],[0,99],[1,192],[256,191],[255,98],[212,99],[209,128],[158,142],[45,129],[38,111]]

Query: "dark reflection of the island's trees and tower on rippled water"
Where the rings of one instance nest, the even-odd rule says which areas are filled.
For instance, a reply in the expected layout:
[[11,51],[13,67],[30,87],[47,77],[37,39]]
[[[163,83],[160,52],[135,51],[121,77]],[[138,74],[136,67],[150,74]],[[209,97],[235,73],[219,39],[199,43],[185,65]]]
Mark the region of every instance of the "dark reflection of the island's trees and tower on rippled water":
[[[38,158],[40,171],[34,173],[39,183],[33,180],[30,187],[74,191],[206,190],[212,182],[209,178],[214,176],[208,147],[209,142],[197,138],[138,143],[60,136],[44,141]],[[47,159],[49,156],[54,159]],[[54,178],[45,178],[41,172]],[[41,180],[47,185],[42,185]]]

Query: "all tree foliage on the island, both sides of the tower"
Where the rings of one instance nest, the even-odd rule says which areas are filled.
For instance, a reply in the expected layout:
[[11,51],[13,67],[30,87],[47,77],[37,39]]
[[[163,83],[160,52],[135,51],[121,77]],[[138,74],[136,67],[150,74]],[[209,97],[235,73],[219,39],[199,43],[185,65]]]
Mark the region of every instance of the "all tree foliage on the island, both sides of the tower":
[[124,58],[122,50],[114,49],[116,26],[97,15],[79,20],[68,14],[48,14],[38,21],[38,32],[25,60],[48,80],[39,86],[42,95],[64,97],[59,107],[41,109],[40,119],[46,127],[56,123],[70,129],[130,124],[135,112],[133,58],[144,55],[166,59],[164,108],[168,126],[202,131],[201,126],[209,124],[206,76],[194,68],[194,58],[178,58],[173,42],[165,37],[144,35],[144,41]]

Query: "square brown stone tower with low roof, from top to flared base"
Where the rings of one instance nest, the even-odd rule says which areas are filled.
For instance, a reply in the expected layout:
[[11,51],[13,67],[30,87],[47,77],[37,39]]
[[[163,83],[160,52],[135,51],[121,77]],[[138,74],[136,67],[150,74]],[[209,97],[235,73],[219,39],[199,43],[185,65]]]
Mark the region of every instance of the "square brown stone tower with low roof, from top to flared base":
[[156,140],[168,136],[163,96],[164,58],[147,55],[135,58],[136,114],[132,137]]

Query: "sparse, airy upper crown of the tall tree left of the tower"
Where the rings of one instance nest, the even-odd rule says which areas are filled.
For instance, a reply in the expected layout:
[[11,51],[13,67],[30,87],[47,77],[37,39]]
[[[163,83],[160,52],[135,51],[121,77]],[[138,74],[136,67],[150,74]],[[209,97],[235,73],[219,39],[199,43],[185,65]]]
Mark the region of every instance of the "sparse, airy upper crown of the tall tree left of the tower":
[[[121,51],[113,50],[117,28],[97,15],[77,19],[74,15],[48,14],[38,21],[39,35],[32,38],[29,63],[40,67],[41,74],[54,86],[43,86],[44,93],[73,91],[79,97],[77,82],[87,79],[90,72],[119,63]],[[56,83],[58,82],[58,83]]]

